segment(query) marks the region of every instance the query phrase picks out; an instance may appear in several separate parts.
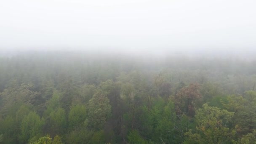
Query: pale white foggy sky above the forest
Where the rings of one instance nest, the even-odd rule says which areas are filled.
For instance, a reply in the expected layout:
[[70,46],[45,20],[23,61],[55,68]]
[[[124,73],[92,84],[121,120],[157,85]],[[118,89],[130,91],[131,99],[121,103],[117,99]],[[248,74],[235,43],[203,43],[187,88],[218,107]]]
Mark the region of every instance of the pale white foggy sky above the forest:
[[2,0],[10,48],[256,49],[256,0]]

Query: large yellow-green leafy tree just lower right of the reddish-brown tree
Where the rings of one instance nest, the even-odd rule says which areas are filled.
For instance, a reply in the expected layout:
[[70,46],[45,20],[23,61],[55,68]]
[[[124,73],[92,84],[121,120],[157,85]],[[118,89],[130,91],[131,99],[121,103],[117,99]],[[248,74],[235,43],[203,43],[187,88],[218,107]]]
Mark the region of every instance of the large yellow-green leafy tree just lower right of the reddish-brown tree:
[[235,130],[228,128],[234,112],[219,109],[218,107],[209,107],[203,104],[203,108],[197,110],[195,119],[197,127],[186,133],[187,143],[197,144],[223,144],[231,143],[235,136]]

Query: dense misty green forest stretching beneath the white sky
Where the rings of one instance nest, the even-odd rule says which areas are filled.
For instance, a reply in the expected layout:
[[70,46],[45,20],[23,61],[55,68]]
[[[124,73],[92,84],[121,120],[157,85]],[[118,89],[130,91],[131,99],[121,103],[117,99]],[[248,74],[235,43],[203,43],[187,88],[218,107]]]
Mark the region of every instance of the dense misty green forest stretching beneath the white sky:
[[1,144],[255,141],[255,59],[111,52],[0,57]]

